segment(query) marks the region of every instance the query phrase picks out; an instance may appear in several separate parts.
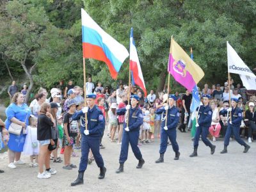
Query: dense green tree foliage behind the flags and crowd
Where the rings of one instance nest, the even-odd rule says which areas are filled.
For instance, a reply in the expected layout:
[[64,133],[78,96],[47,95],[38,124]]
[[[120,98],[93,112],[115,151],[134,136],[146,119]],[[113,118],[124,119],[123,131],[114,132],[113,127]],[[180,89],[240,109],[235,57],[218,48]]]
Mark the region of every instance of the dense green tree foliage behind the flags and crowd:
[[[193,47],[195,62],[203,68],[200,82],[223,83],[227,79],[230,42],[250,67],[256,60],[256,2],[244,0],[13,0],[0,7],[0,77],[10,72],[24,83],[24,66],[31,69],[34,89],[51,88],[63,79],[83,85],[81,8],[111,36],[129,48],[134,38],[147,89],[161,90],[166,81],[170,38],[185,51]],[[24,58],[26,52],[27,57]],[[22,67],[21,67],[22,66]],[[34,70],[33,70],[34,69]],[[108,68],[86,60],[87,76],[115,86]],[[29,72],[29,71],[28,71]],[[26,77],[28,77],[27,74]],[[235,82],[239,77],[233,75]],[[128,59],[118,79],[128,81]],[[28,80],[25,80],[28,81]],[[31,81],[30,81],[31,83]],[[29,81],[28,81],[29,84]],[[172,79],[172,89],[182,89]]]

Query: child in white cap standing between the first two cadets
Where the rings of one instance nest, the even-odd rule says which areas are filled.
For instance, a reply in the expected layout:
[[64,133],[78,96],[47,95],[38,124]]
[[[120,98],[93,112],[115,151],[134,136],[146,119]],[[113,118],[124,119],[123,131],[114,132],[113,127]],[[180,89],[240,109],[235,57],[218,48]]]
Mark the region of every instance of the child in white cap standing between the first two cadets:
[[117,116],[116,116],[116,103],[112,103],[110,106],[110,109],[108,111],[108,117],[109,117],[109,124],[111,125],[110,127],[110,141],[114,141],[115,133],[116,133],[116,127],[117,127]]

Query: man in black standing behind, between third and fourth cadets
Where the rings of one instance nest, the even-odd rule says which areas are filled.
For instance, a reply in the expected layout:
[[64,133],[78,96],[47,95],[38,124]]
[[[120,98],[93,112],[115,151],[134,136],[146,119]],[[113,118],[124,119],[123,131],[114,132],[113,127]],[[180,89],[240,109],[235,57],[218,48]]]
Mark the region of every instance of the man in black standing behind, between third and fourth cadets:
[[179,126],[179,131],[186,132],[186,125],[189,122],[190,115],[190,105],[191,105],[192,95],[189,90],[186,90],[186,94],[182,96],[182,111],[181,111],[181,124]]

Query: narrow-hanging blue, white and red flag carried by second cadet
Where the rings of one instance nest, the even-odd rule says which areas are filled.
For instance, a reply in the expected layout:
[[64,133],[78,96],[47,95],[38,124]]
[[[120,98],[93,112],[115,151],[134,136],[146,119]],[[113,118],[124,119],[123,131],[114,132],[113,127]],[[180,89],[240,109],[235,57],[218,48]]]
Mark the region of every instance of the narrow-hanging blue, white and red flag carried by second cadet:
[[132,75],[132,84],[137,84],[143,90],[145,96],[147,96],[147,90],[144,83],[143,75],[140,68],[140,61],[138,58],[135,42],[133,39],[133,29],[131,28],[130,35],[130,70]]

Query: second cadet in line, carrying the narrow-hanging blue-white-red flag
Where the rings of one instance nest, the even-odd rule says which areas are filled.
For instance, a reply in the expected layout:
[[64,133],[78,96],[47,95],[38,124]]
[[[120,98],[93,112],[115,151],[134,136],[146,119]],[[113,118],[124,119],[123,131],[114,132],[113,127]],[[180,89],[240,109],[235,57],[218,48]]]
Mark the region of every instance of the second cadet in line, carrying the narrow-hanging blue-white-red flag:
[[118,170],[116,170],[116,173],[124,172],[124,163],[127,160],[129,143],[131,144],[134,156],[139,160],[138,166],[136,166],[136,168],[142,168],[143,164],[145,163],[144,159],[142,158],[140,148],[138,147],[140,125],[143,124],[142,111],[138,106],[140,97],[138,97],[138,95],[131,95],[130,98],[131,106],[127,105],[125,108],[118,109],[116,111],[117,115],[124,115],[125,112],[129,110],[129,124],[127,125],[126,122],[124,122],[124,132],[119,157],[120,166]]

